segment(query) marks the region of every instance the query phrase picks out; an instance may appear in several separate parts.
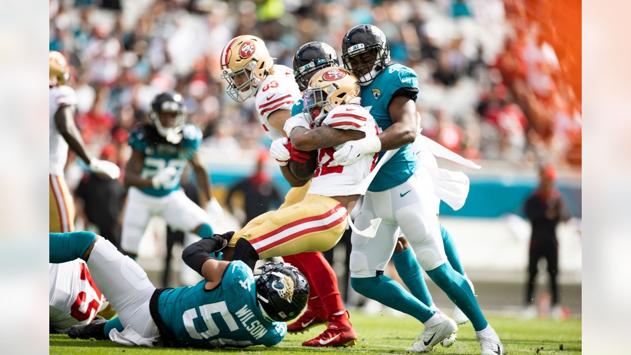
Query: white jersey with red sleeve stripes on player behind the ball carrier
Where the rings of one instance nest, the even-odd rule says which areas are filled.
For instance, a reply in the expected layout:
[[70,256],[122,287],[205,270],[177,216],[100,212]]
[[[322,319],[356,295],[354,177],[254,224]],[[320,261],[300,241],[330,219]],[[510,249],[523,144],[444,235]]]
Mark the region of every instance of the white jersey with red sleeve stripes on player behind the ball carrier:
[[292,69],[274,64],[274,74],[268,75],[259,85],[254,104],[259,120],[269,140],[282,138],[283,134],[268,122],[268,116],[276,110],[292,110],[293,103],[300,99],[300,89],[293,78]]

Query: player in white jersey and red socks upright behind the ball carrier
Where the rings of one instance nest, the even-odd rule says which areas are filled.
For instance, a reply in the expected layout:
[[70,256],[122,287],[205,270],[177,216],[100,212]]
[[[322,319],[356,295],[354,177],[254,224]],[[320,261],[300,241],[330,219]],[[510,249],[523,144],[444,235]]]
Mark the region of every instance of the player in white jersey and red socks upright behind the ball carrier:
[[[301,97],[292,69],[273,63],[264,42],[251,35],[243,35],[230,40],[221,52],[221,77],[228,81],[227,93],[237,102],[244,102],[254,97],[255,108],[268,138],[273,142],[272,149],[287,155],[281,165],[283,176],[293,187],[285,196],[285,202],[279,209],[295,205],[304,200],[309,190],[310,181],[300,181],[288,171],[288,160],[304,162],[308,157],[292,147],[286,138],[283,126],[292,116],[291,109],[295,101]],[[262,216],[251,220],[242,229],[245,231],[260,226],[266,220]],[[241,231],[240,231],[241,232]],[[237,234],[240,234],[237,232]],[[235,246],[237,238],[233,238],[228,246]],[[326,339],[319,342],[304,342],[305,346],[348,346],[357,341],[357,335],[348,321],[348,313],[344,309],[338,290],[338,280],[322,253],[307,252],[298,255],[286,255],[285,262],[291,263],[307,277],[310,288],[310,298],[319,298],[324,305],[320,316],[322,321],[310,323],[307,321],[302,331],[329,322],[330,327],[325,331]],[[317,277],[311,277],[317,275]],[[301,322],[302,323],[302,322]],[[323,333],[324,334],[324,333]],[[330,340],[328,340],[330,339]]]

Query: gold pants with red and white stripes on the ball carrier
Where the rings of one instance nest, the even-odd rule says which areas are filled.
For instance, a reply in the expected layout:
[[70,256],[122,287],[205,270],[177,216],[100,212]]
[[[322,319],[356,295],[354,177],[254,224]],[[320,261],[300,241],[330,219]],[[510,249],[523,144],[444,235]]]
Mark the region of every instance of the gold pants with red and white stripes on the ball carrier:
[[305,198],[276,211],[262,214],[235,233],[229,246],[244,238],[252,244],[259,259],[303,251],[326,251],[342,238],[348,212],[337,200],[326,196]]

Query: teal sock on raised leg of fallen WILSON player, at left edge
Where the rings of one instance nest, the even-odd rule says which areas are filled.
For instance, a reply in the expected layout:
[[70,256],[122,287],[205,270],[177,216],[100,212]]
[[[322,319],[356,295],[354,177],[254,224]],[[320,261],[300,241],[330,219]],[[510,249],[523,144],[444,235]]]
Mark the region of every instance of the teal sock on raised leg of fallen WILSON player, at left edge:
[[49,262],[58,264],[82,258],[96,238],[93,232],[49,233]]

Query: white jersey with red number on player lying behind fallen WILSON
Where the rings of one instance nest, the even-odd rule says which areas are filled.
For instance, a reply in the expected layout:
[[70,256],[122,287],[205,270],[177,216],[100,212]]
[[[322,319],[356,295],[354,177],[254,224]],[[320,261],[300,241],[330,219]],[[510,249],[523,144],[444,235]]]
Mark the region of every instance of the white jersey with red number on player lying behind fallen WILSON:
[[107,307],[83,260],[49,263],[49,322],[58,332],[88,324]]

